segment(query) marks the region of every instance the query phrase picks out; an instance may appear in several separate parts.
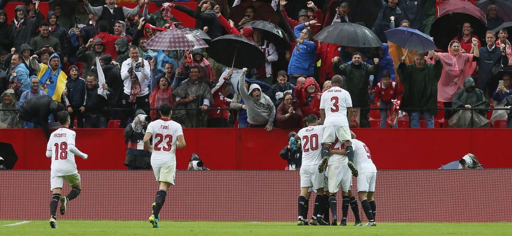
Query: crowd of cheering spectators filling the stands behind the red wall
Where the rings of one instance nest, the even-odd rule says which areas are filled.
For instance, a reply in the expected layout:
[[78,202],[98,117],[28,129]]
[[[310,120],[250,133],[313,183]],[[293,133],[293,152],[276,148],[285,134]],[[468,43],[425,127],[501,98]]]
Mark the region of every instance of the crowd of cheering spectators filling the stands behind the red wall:
[[[0,1],[0,9],[7,2]],[[258,2],[263,7],[251,5],[256,2],[250,0],[204,0],[196,9],[174,3],[162,6],[173,2],[163,0],[119,2],[139,4],[131,9],[116,5],[116,0],[78,0],[74,14],[65,14],[64,6],[54,4],[43,15],[39,1],[27,0],[14,12],[0,10],[0,128],[34,127],[19,119],[15,109],[46,95],[66,106],[78,128],[105,128],[111,120],[120,120],[124,128],[137,109],[156,120],[158,112],[150,109],[164,103],[175,109],[173,120],[184,127],[300,128],[304,117],[320,116],[321,93],[332,86],[335,75],[343,76],[342,86],[354,106],[352,122],[360,127],[371,126],[370,107],[380,109],[377,119],[380,127],[386,127],[393,106],[398,105],[395,100],[408,113],[405,117],[412,128],[420,127],[420,119],[434,128],[438,107],[509,108],[512,104],[512,48],[506,28],[490,31],[503,23],[494,5],[486,8],[484,38],[473,33],[476,29],[468,21],[460,32],[446,33],[458,35],[450,44],[423,53],[400,48],[384,32],[408,27],[429,34],[436,20],[435,1],[374,1],[375,9],[340,0]],[[150,4],[162,7],[150,13]],[[265,62],[243,66],[248,69],[242,73],[242,68],[232,69],[209,57],[211,47],[146,48],[147,40],[159,31],[180,28],[175,23],[180,19],[171,14],[175,11],[196,18],[195,28],[211,40],[226,34],[246,37],[260,46]],[[235,19],[236,13],[241,20]],[[14,18],[8,22],[11,14]],[[291,47],[265,38],[268,34],[259,28],[244,26],[274,16],[282,19],[279,26]],[[353,48],[314,40],[323,28],[343,22],[372,29],[381,47]],[[98,74],[105,78],[101,87]],[[485,127],[487,112],[446,110],[444,119],[451,127]],[[490,122],[507,117],[510,127],[508,110],[494,110]]]

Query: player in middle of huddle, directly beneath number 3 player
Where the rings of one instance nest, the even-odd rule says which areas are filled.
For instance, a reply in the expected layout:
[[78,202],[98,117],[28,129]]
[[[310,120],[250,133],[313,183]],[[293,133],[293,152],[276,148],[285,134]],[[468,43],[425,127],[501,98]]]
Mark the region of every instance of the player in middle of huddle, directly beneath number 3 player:
[[348,208],[350,205],[355,217],[354,226],[361,226],[362,224],[361,219],[359,218],[359,207],[357,206],[357,200],[350,191],[352,187],[352,176],[350,175],[350,168],[347,165],[348,158],[345,154],[346,149],[343,144],[338,141],[338,139],[334,140],[334,143],[331,146],[331,151],[329,152],[329,164],[327,166],[327,179],[329,180],[328,202],[333,216],[331,225],[337,225],[338,216],[336,211],[336,193],[338,192],[339,188],[341,188],[343,196],[343,218],[340,222],[340,225],[347,225]]

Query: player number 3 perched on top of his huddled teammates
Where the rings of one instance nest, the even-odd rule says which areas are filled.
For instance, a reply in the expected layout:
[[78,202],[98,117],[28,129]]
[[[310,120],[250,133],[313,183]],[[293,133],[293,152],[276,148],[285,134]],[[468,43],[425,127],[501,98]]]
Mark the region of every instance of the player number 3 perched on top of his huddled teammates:
[[357,176],[354,167],[354,150],[350,142],[349,119],[352,117],[352,99],[347,90],[341,88],[342,77],[335,75],[331,79],[332,87],[322,93],[320,98],[320,117],[325,126],[324,139],[322,140],[322,163],[318,166],[318,172],[324,172],[329,151],[336,138],[345,146],[348,166],[353,176]]

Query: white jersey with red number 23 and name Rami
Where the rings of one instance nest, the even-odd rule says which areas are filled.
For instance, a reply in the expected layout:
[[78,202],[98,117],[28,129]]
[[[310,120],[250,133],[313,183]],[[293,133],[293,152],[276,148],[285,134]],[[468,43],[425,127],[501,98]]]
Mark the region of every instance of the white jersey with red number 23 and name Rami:
[[178,135],[183,135],[181,125],[175,121],[160,119],[147,125],[146,133],[153,134],[151,166],[176,164],[176,140]]

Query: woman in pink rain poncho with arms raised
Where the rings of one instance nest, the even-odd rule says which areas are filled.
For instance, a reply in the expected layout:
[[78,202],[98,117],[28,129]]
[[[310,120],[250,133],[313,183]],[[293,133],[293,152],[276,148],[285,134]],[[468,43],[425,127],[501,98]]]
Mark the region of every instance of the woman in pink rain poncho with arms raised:
[[[475,70],[480,53],[478,40],[472,39],[473,54],[461,53],[460,43],[452,40],[448,53],[436,53],[436,59],[441,60],[443,70],[441,79],[437,83],[437,101],[443,102],[444,107],[452,107],[453,96],[459,89],[464,89],[464,80],[470,77]],[[451,111],[444,113],[444,119],[450,119]]]

